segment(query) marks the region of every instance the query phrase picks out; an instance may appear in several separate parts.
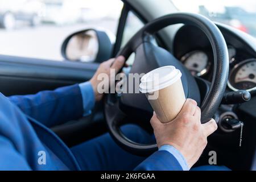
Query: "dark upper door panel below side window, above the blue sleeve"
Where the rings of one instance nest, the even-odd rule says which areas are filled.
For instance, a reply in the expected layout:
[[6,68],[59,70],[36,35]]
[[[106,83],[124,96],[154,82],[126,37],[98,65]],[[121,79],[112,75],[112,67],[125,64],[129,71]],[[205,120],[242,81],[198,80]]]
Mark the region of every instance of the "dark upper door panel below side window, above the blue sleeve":
[[97,70],[95,63],[49,61],[0,56],[0,92],[6,96],[52,90],[89,80]]

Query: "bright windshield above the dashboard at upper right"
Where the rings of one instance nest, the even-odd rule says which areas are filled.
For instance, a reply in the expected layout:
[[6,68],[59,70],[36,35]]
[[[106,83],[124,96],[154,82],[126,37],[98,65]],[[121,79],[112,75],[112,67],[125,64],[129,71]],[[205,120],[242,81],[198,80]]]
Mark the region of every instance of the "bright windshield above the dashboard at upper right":
[[255,0],[172,0],[180,11],[199,13],[256,37]]

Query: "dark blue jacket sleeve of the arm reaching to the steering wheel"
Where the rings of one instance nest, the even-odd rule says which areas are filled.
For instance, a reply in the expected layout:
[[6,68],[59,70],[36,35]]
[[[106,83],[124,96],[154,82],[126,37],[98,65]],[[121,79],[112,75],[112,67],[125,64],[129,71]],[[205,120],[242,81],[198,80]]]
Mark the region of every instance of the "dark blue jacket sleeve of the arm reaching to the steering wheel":
[[82,94],[78,84],[63,86],[56,90],[46,90],[37,94],[11,96],[9,100],[18,106],[24,114],[47,127],[79,119],[84,113]]

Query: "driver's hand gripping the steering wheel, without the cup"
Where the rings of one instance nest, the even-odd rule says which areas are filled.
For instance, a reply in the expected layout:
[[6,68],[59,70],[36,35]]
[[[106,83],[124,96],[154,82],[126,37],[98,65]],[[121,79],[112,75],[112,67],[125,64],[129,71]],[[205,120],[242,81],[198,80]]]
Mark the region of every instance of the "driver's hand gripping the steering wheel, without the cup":
[[[119,71],[119,69],[123,67],[123,64],[125,64],[125,57],[123,56],[118,56],[117,58],[109,59],[108,61],[105,61],[100,64],[100,67],[98,67],[96,73],[94,74],[92,79],[90,79],[90,83],[92,84],[96,101],[100,101],[103,96],[102,93],[98,92],[98,84],[100,84],[100,82],[102,81],[98,79],[98,76],[101,73],[105,73],[106,75],[108,75],[109,77],[108,85],[110,85],[110,69],[115,69],[115,74],[116,74]],[[105,89],[109,89],[109,88],[105,88]]]

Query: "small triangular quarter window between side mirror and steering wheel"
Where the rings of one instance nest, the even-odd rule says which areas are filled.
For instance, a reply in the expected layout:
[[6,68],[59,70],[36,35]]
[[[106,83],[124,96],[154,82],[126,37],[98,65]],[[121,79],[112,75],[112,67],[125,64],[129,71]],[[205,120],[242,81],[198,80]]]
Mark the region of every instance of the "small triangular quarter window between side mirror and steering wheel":
[[[126,19],[125,29],[123,30],[121,48],[132,38],[132,36],[144,26],[144,23],[133,11],[129,11]],[[132,53],[126,61],[128,65],[133,64],[135,54]]]

